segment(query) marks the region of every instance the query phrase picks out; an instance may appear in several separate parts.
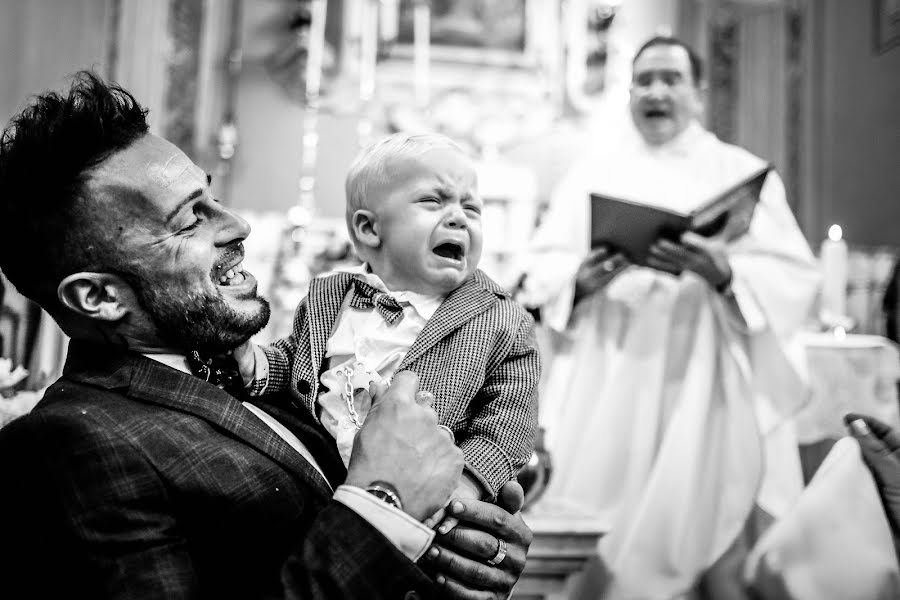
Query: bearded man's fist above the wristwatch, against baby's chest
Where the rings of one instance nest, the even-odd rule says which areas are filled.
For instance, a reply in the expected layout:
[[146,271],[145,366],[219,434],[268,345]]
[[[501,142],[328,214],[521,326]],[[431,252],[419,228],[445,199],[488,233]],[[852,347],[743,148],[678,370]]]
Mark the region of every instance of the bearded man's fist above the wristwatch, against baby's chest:
[[[394,488],[403,510],[424,521],[442,508],[459,484],[462,450],[442,429],[431,401],[416,402],[419,378],[401,371],[390,388],[372,384],[372,408],[356,434],[347,483]],[[430,394],[428,394],[430,397]]]

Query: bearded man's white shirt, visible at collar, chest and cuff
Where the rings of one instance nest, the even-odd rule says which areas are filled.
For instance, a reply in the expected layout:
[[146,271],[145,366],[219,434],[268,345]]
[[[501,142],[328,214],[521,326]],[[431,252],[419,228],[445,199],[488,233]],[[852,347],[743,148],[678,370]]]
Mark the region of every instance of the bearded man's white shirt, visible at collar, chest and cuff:
[[[178,354],[144,354],[144,356],[173,369],[191,374],[187,359],[184,356]],[[258,406],[248,402],[243,402],[242,404],[315,467],[322,475],[322,479],[326,482],[328,481],[325,473],[322,472],[321,467],[313,458],[306,445],[291,433],[287,427]],[[369,498],[365,498],[365,496]],[[425,527],[425,525],[419,523],[405,512],[394,508],[386,502],[382,502],[361,488],[351,485],[339,486],[334,493],[334,499],[368,521],[413,562],[422,558],[422,555],[434,539],[434,531],[430,528]],[[372,501],[368,501],[369,499]]]

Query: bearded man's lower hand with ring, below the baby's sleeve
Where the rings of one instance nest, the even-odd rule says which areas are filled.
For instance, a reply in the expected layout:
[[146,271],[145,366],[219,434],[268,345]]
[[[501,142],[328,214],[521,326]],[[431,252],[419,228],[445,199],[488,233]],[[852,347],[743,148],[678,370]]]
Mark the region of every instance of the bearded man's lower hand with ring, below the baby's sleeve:
[[[525,568],[532,534],[517,513],[525,495],[515,481],[507,483],[497,497],[499,506],[480,500],[454,499],[447,511],[459,524],[425,554],[436,571],[436,580],[449,598],[488,600],[507,598]],[[506,555],[496,565],[500,540]]]

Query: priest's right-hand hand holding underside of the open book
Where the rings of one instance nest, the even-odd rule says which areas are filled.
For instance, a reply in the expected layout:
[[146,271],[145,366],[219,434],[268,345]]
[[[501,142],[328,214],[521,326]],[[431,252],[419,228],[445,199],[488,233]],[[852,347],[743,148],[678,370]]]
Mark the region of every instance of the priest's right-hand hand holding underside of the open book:
[[717,289],[731,280],[725,243],[691,231],[681,235],[681,243],[666,239],[654,242],[650,246],[647,266],[672,275],[693,271]]

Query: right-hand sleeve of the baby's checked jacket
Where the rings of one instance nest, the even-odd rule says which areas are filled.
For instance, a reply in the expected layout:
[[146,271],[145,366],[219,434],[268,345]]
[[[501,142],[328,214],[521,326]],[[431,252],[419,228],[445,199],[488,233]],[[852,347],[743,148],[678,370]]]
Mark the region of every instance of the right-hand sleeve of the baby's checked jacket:
[[458,439],[466,469],[491,492],[491,499],[531,458],[537,436],[540,353],[531,315],[524,310],[515,314],[515,334],[496,349],[498,363],[472,401],[477,409]]

